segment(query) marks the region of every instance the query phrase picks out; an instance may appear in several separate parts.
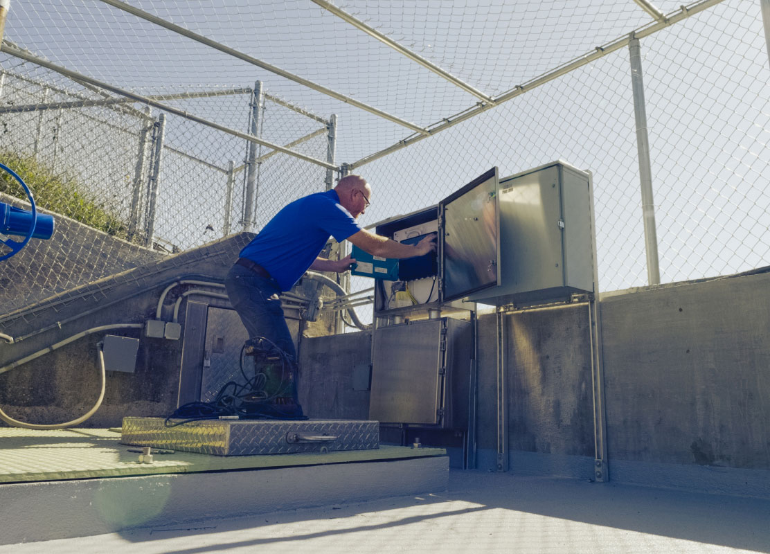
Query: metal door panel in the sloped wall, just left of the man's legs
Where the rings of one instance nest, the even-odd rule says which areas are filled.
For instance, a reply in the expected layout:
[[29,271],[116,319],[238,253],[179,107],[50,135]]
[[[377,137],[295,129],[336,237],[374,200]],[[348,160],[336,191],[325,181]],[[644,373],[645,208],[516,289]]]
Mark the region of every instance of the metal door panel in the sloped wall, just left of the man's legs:
[[235,310],[209,307],[203,352],[200,400],[210,402],[229,381],[243,383],[240,351],[249,338]]

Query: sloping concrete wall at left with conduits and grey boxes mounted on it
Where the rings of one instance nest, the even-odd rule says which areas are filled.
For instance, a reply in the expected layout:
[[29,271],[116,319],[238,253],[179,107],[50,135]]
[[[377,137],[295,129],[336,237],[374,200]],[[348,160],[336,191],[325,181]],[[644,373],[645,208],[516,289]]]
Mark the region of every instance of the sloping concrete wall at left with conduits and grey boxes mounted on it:
[[[67,290],[0,319],[2,333],[23,338],[16,344],[0,344],[0,367],[92,327],[154,319],[159,295],[169,283],[184,276],[221,282],[250,238],[248,233],[234,235],[165,257]],[[166,321],[171,319],[170,306],[179,289],[172,292],[162,313]],[[142,337],[139,329],[107,332]],[[3,411],[21,421],[42,424],[70,421],[88,411],[99,396],[96,343],[104,334],[83,337],[0,374]],[[120,425],[127,415],[168,415],[176,408],[181,351],[181,341],[142,337],[136,371],[108,372],[105,400],[85,426]]]

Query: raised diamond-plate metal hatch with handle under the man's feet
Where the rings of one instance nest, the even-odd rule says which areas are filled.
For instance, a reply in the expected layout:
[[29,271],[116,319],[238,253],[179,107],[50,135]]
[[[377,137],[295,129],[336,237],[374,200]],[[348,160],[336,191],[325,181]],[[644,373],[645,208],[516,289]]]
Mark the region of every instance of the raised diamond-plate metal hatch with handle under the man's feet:
[[[166,427],[165,418],[123,418],[124,445],[171,448],[217,456],[332,452],[380,448],[377,421],[190,421]],[[179,421],[179,420],[171,420]],[[331,442],[289,442],[290,435],[334,436]]]

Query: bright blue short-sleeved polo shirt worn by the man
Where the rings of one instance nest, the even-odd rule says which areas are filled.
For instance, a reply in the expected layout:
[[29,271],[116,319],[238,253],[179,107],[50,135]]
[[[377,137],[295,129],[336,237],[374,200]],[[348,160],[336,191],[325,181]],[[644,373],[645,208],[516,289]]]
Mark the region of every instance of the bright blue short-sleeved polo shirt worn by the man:
[[294,200],[240,252],[264,267],[281,290],[290,290],[313,264],[329,237],[342,242],[361,227],[333,190]]

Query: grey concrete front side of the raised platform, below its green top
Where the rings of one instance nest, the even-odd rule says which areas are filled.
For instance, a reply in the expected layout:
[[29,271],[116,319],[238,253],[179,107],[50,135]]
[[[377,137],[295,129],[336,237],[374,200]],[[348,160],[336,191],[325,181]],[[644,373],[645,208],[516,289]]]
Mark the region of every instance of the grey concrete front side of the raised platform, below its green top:
[[449,458],[0,485],[0,544],[444,492]]

